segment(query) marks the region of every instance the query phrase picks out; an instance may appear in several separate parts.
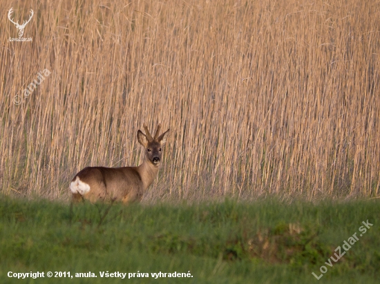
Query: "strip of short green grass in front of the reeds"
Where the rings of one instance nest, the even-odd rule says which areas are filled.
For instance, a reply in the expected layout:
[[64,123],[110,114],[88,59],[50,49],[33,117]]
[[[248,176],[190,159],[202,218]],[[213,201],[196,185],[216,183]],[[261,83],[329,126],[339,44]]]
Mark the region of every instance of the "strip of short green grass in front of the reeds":
[[[359,236],[362,221],[373,226]],[[379,201],[131,206],[0,199],[1,283],[377,283]],[[332,267],[325,261],[357,232]],[[317,281],[312,272],[327,272]],[[8,272],[70,272],[8,278]],[[99,272],[126,278],[101,278]],[[93,272],[97,278],[75,278]],[[149,273],[129,278],[128,273]],[[152,278],[190,272],[189,278]]]

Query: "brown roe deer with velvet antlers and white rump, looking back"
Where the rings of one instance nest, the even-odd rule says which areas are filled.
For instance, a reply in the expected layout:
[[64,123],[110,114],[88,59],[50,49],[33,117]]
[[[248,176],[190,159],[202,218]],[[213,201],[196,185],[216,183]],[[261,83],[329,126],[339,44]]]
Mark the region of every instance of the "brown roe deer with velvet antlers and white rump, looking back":
[[[145,133],[137,131],[137,141],[145,148],[144,161],[138,167],[104,168],[87,167],[78,172],[70,183],[73,201],[88,199],[91,203],[111,199],[128,203],[140,201],[146,188],[158,174],[162,159],[162,146],[169,129],[160,135],[158,124],[154,138],[144,125]],[[160,135],[160,136],[159,136]]]

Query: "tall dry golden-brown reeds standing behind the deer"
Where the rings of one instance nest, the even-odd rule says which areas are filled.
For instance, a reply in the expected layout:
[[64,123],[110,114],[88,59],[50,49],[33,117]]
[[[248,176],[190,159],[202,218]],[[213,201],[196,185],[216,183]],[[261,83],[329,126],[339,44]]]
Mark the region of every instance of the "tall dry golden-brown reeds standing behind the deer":
[[85,166],[141,163],[160,121],[145,202],[379,196],[379,4],[3,0],[0,190],[68,200]]

